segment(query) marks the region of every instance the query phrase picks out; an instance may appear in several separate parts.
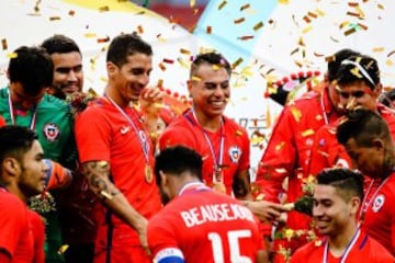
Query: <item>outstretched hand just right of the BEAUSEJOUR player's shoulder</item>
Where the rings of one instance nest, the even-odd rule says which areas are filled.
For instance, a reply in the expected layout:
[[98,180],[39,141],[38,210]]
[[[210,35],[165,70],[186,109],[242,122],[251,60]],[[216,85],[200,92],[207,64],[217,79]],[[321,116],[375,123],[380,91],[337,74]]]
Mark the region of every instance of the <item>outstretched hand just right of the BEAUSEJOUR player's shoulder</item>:
[[283,211],[289,211],[283,205],[268,201],[247,201],[245,205],[264,222],[272,222],[280,219]]

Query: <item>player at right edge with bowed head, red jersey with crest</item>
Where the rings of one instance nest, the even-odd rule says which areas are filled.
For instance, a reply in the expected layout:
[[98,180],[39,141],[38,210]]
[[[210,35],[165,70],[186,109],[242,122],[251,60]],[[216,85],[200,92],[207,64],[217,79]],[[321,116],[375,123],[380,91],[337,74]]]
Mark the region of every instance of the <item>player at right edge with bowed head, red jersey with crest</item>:
[[371,179],[360,211],[362,229],[395,255],[395,146],[388,125],[376,112],[357,108],[340,123],[337,138]]

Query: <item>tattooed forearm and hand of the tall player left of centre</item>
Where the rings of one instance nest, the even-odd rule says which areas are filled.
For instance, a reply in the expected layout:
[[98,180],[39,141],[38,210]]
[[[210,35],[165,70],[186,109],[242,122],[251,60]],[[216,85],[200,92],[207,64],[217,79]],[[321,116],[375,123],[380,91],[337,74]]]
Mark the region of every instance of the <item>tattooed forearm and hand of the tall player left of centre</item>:
[[110,181],[110,163],[106,161],[89,161],[82,165],[90,190],[119,218],[138,232],[143,248],[148,251],[147,219],[131,206],[126,197]]

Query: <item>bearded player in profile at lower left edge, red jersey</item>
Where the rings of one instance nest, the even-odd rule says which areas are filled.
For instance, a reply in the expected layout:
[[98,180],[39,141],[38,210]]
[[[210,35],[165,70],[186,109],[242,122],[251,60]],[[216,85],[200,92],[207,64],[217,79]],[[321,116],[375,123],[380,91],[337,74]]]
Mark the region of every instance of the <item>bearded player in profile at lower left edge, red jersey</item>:
[[[44,191],[44,151],[37,135],[24,127],[0,128],[0,262],[44,262],[44,247],[35,248],[33,228],[41,228],[36,240],[44,241],[43,221],[27,209],[27,199]],[[32,226],[32,224],[37,224]],[[34,250],[37,249],[38,253]],[[41,259],[41,260],[40,260]]]

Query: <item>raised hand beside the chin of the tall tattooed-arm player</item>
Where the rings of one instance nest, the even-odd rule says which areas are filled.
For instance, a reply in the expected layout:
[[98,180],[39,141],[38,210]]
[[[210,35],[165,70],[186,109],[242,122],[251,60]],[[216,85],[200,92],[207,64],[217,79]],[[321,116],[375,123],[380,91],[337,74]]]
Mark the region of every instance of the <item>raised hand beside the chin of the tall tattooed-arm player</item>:
[[162,101],[163,92],[159,89],[145,88],[139,98],[139,107],[148,117],[158,117]]

